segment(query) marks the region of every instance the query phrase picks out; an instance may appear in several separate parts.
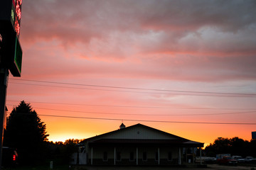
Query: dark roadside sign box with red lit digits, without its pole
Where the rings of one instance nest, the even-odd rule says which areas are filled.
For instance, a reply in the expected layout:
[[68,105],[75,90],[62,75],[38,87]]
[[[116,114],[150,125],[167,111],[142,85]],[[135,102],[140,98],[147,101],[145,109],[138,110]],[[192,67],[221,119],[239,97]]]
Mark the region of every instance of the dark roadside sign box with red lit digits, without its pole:
[[0,67],[10,69],[14,77],[21,77],[21,5],[22,0],[0,0]]

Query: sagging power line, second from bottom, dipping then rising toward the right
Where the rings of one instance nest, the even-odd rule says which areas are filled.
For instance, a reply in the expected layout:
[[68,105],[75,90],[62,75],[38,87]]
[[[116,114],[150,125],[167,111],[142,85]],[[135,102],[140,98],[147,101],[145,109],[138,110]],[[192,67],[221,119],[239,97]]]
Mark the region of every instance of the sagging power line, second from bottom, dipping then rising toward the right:
[[247,112],[233,112],[233,113],[202,113],[202,114],[132,114],[132,113],[106,113],[106,112],[90,112],[90,111],[70,111],[54,108],[38,108],[48,111],[63,111],[69,113],[89,113],[89,114],[102,114],[102,115],[137,115],[137,116],[198,116],[198,115],[234,115],[234,114],[245,114],[245,113],[256,113],[256,111]]

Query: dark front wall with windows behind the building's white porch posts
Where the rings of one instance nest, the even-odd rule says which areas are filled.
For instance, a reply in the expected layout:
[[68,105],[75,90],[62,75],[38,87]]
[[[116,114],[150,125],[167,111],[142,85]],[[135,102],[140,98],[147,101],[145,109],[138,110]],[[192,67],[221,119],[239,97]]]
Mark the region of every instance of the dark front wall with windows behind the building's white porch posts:
[[[115,148],[115,149],[114,149]],[[159,149],[159,156],[158,156]],[[115,161],[114,161],[115,150]],[[104,152],[107,152],[107,159],[104,160]],[[131,154],[133,153],[133,157]],[[171,155],[170,155],[171,154]],[[137,147],[92,147],[87,152],[88,164],[97,165],[136,165]],[[119,157],[119,156],[120,157]],[[178,147],[138,147],[139,165],[178,164]],[[120,158],[118,160],[118,158]],[[131,159],[133,158],[133,159]]]

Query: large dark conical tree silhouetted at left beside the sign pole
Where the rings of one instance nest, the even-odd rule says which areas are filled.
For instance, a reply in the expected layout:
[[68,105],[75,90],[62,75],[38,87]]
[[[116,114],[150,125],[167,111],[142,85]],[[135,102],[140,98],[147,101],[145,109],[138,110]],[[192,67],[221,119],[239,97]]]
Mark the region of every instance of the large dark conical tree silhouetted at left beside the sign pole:
[[41,122],[30,103],[21,101],[7,118],[4,145],[18,151],[21,164],[41,162],[45,156],[46,124]]

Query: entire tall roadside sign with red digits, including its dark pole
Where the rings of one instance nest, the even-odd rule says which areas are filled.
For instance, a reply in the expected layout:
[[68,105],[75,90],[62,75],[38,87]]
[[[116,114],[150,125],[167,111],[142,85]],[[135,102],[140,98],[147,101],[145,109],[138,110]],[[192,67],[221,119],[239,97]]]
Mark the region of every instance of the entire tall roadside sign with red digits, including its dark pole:
[[0,1],[0,170],[9,70],[14,77],[21,77],[21,5],[22,0]]

